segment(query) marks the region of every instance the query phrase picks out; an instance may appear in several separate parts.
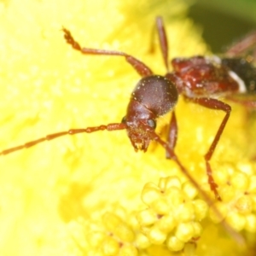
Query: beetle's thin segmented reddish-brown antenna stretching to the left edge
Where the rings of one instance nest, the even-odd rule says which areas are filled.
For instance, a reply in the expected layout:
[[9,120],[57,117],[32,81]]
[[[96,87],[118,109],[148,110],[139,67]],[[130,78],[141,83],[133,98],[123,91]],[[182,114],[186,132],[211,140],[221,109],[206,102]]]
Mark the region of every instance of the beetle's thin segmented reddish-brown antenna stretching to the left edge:
[[23,145],[20,146],[16,146],[14,148],[8,148],[8,149],[4,149],[2,152],[0,152],[1,154],[10,154],[13,153],[15,151],[18,151],[22,148],[30,148],[32,146],[37,145],[38,143],[43,143],[45,141],[50,141],[52,139],[55,139],[57,137],[62,137],[65,135],[74,135],[74,134],[78,134],[78,133],[82,133],[82,132],[86,132],[86,133],[90,133],[90,132],[95,132],[95,131],[103,131],[103,130],[107,130],[107,131],[115,131],[115,130],[123,130],[126,129],[126,125],[125,124],[108,124],[108,125],[99,125],[96,127],[87,127],[84,129],[70,129],[68,131],[61,131],[61,132],[57,132],[57,133],[53,133],[53,134],[49,134],[45,137],[41,137],[37,140],[28,142],[28,143],[24,143]]

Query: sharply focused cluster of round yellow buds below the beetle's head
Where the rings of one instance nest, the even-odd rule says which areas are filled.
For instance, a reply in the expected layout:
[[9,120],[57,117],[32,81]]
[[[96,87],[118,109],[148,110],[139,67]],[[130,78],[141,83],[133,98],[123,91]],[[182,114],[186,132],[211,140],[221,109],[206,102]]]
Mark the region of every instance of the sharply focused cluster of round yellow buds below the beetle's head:
[[178,177],[160,178],[158,186],[145,185],[142,199],[148,209],[138,212],[137,218],[152,244],[166,241],[171,251],[180,251],[186,242],[201,236],[200,221],[207,215],[207,203],[195,200],[196,194],[194,187]]

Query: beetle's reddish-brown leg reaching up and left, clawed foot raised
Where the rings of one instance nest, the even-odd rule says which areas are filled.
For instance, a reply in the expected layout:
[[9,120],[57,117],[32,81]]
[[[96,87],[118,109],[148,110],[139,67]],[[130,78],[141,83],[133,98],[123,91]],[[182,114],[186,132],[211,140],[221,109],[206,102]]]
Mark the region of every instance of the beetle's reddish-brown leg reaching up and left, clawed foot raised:
[[127,55],[122,51],[118,50],[108,50],[108,49],[90,49],[81,47],[80,44],[75,41],[70,31],[66,28],[62,28],[64,32],[64,38],[67,41],[67,44],[71,44],[73,49],[79,50],[84,55],[115,55],[115,56],[124,56],[125,60],[131,64],[131,66],[139,73],[142,77],[153,75],[151,69],[144,64],[142,61],[137,60],[137,58]]

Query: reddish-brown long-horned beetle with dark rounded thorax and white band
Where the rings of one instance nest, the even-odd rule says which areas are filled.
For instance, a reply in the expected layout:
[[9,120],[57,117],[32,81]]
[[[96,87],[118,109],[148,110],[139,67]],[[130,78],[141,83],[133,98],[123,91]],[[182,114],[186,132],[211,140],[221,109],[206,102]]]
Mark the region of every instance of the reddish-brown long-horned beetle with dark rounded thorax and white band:
[[[164,76],[154,74],[145,63],[125,52],[83,48],[73,38],[71,32],[66,28],[62,28],[67,44],[70,44],[73,49],[78,50],[84,55],[119,55],[125,57],[125,61],[142,76],[142,79],[138,81],[135,89],[131,93],[131,100],[128,104],[125,117],[119,123],[71,129],[69,131],[49,134],[46,137],[23,145],[5,149],[0,154],[10,154],[22,148],[30,148],[38,143],[66,135],[103,130],[126,130],[131,144],[136,151],[143,150],[146,152],[151,141],[160,143],[166,149],[166,157],[174,160],[191,183],[199,189],[194,178],[190,176],[174,152],[178,130],[175,106],[178,96],[183,95],[189,102],[197,103],[205,108],[221,110],[225,113],[212,144],[204,156],[208,183],[216,199],[221,201],[221,197],[218,195],[218,185],[212,177],[210,160],[218,145],[219,138],[224,131],[224,127],[230,118],[231,108],[229,104],[218,100],[218,96],[232,96],[236,93],[240,94],[247,91],[255,92],[256,69],[253,67],[251,61],[246,61],[242,58],[225,57],[221,59],[217,56],[205,57],[195,55],[190,58],[173,59],[173,71],[169,72],[166,30],[161,17],[156,18],[156,27],[160,40],[160,49],[167,70]],[[253,42],[253,40],[251,41]],[[239,55],[243,50],[241,48],[236,49],[235,47],[235,50],[230,49],[230,53],[235,52],[235,55]],[[155,132],[156,121],[160,116],[170,111],[172,111],[172,118],[168,128],[167,139],[164,141]],[[201,193],[204,194],[202,191]],[[207,198],[207,195],[204,195],[204,197]]]

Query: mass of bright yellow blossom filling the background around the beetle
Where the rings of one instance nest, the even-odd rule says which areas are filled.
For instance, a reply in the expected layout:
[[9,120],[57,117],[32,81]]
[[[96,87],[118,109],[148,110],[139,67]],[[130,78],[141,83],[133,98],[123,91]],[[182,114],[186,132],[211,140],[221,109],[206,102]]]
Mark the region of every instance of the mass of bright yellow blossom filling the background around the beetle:
[[[123,57],[81,55],[61,27],[84,47],[121,50],[165,74],[157,15],[170,59],[207,53],[187,8],[180,0],[0,2],[0,147],[125,116],[137,72]],[[250,144],[244,109],[232,108],[211,160],[223,201],[209,212],[200,194],[214,201],[203,155],[224,113],[182,97],[175,152],[201,191],[160,145],[136,153],[125,131],[60,137],[1,155],[0,255],[253,254],[255,164],[243,149]],[[159,120],[163,138],[169,119]],[[241,231],[246,247],[237,245]]]

